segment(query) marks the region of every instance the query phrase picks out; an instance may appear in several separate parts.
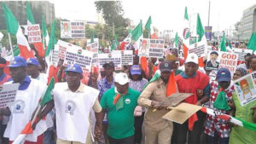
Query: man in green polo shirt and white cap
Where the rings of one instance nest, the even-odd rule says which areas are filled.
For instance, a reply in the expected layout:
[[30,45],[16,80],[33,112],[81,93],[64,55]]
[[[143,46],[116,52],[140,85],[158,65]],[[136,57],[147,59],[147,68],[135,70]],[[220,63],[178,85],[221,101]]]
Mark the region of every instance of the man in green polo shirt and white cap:
[[140,93],[129,88],[126,73],[114,77],[114,88],[108,89],[101,99],[102,121],[108,110],[109,144],[134,144],[134,109]]

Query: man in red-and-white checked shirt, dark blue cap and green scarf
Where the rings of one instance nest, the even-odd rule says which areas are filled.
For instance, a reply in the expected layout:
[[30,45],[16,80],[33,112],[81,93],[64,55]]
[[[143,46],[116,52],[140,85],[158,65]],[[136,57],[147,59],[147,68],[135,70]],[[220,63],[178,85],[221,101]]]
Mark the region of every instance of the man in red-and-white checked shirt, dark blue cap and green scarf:
[[[230,71],[226,68],[219,69],[216,79],[217,81],[212,81],[211,83],[209,108],[229,114],[230,106],[228,102],[231,101],[235,92],[233,84],[230,84]],[[207,115],[205,134],[207,134],[207,143],[228,144],[230,127],[227,121]]]

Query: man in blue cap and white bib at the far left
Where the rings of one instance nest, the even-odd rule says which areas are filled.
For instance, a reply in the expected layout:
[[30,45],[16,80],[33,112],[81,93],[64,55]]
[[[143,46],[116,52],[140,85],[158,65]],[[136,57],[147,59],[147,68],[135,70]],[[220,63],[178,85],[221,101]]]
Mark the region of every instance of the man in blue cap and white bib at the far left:
[[[12,143],[20,135],[20,132],[25,128],[30,118],[32,118],[32,113],[35,111],[38,101],[44,94],[46,84],[29,78],[26,75],[26,60],[20,56],[15,56],[10,60],[9,71],[13,81],[5,84],[19,83],[20,86],[15,97],[15,102],[5,109],[0,109],[0,115],[10,116],[3,136],[8,137],[9,143]],[[52,124],[48,125],[45,121],[40,121],[38,124],[40,124],[40,130],[36,127],[33,134],[27,135],[25,144],[27,142],[43,144],[42,134]]]

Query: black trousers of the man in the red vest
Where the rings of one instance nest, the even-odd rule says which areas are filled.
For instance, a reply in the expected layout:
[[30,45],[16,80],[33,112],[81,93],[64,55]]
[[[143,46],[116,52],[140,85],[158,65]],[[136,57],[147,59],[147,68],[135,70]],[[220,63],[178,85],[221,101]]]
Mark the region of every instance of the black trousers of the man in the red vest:
[[172,144],[186,144],[187,133],[189,132],[188,144],[200,144],[201,134],[204,131],[204,121],[206,119],[206,114],[199,111],[196,112],[198,120],[194,124],[192,131],[189,130],[189,120],[184,124],[173,123],[173,137]]

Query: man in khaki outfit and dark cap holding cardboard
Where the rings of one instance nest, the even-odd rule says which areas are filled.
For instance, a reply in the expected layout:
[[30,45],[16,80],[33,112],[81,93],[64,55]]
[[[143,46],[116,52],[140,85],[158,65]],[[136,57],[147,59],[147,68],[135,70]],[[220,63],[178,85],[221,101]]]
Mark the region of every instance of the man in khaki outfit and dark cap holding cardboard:
[[[166,99],[166,85],[172,72],[171,63],[160,63],[160,78],[148,84],[138,98],[138,105],[147,107],[144,117],[145,143],[170,144],[172,137],[172,122],[162,118],[168,110],[160,106]],[[157,109],[156,112],[153,112]]]

